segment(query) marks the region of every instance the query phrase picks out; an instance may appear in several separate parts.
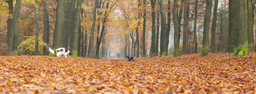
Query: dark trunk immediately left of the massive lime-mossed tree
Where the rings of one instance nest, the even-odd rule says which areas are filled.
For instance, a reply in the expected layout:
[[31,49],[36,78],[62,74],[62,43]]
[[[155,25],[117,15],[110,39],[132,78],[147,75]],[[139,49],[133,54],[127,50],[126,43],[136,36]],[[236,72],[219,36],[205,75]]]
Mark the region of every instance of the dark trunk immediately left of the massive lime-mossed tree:
[[229,1],[229,34],[228,34],[228,51],[234,52],[236,46],[235,32],[235,4],[234,0]]

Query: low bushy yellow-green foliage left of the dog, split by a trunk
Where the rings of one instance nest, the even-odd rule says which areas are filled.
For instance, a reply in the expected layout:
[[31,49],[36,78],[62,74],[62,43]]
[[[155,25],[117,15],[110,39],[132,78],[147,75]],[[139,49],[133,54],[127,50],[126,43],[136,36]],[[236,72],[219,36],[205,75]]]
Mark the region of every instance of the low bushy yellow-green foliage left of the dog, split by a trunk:
[[[23,53],[35,53],[35,36],[27,36],[24,37],[26,40],[22,41],[19,44],[19,50],[18,53],[21,55]],[[39,55],[43,55],[43,48],[49,48],[47,43],[43,42],[42,37],[38,38],[38,44],[39,44]]]

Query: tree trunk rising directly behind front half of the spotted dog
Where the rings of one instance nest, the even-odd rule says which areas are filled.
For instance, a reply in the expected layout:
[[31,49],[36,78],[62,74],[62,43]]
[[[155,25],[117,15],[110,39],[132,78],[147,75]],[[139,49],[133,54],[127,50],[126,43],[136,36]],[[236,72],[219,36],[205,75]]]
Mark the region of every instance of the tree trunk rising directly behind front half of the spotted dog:
[[62,38],[63,48],[68,48],[68,42],[69,42],[69,10],[70,10],[69,1],[70,0],[67,0],[66,7],[65,7],[65,21],[64,21],[64,27],[63,27],[63,38]]

